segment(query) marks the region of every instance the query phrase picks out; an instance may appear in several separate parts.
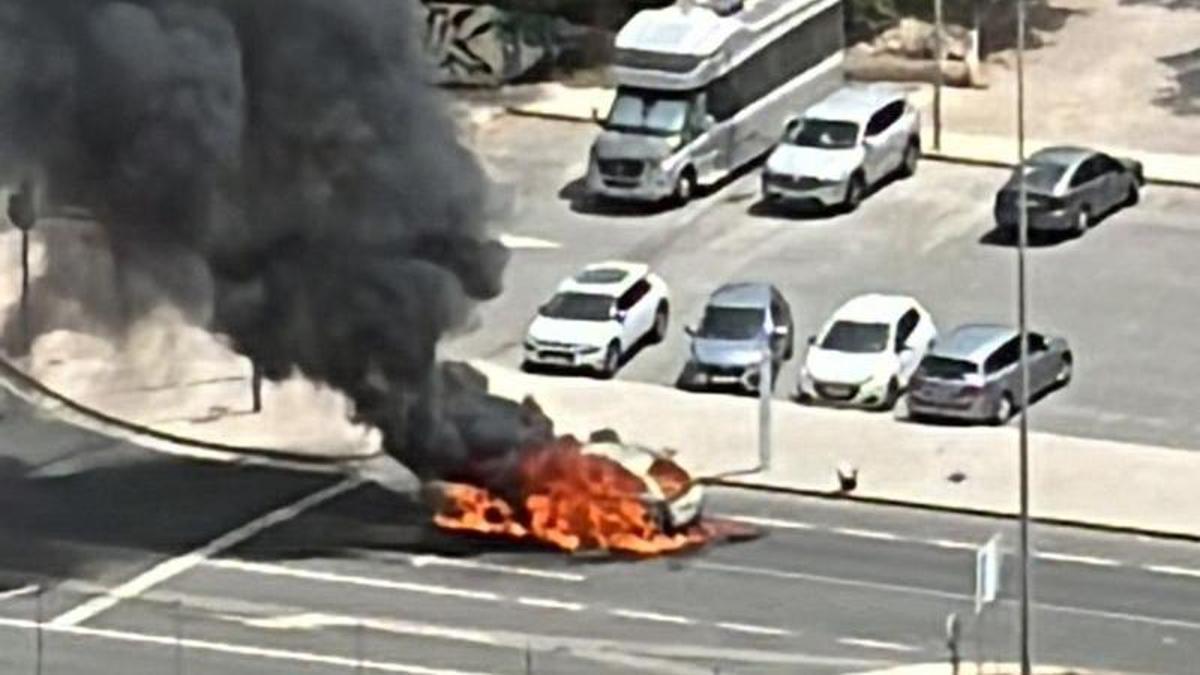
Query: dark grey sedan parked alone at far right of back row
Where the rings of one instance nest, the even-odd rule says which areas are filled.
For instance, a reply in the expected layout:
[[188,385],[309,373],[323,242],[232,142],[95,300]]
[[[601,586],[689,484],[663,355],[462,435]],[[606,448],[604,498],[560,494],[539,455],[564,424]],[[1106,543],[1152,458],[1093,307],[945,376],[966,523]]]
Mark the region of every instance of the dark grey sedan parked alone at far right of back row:
[[[1046,148],[1025,165],[1031,232],[1084,234],[1104,215],[1136,204],[1146,184],[1141,162],[1087,148]],[[996,226],[1010,234],[1019,227],[1021,180],[1018,168],[996,195]]]

